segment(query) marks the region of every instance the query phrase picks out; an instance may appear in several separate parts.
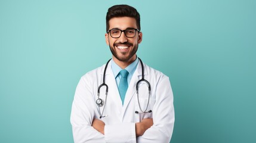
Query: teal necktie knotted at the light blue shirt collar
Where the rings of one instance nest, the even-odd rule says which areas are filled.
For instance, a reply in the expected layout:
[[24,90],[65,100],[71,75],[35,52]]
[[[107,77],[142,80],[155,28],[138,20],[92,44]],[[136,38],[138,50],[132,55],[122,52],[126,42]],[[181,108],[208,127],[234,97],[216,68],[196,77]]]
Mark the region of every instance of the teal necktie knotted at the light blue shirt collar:
[[122,100],[122,104],[124,105],[124,100],[125,100],[125,94],[127,93],[127,88],[128,88],[128,83],[127,83],[127,76],[128,76],[128,71],[127,70],[121,70],[119,72],[121,74],[121,80],[119,82],[118,90],[119,94]]

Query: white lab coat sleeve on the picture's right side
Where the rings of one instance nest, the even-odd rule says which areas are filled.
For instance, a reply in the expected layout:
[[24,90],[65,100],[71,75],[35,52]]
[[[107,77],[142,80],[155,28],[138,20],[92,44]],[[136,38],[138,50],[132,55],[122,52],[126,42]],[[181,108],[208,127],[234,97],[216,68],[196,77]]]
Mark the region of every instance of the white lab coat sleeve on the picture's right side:
[[137,142],[169,142],[174,128],[173,94],[169,78],[164,76],[156,87],[153,126],[137,137]]

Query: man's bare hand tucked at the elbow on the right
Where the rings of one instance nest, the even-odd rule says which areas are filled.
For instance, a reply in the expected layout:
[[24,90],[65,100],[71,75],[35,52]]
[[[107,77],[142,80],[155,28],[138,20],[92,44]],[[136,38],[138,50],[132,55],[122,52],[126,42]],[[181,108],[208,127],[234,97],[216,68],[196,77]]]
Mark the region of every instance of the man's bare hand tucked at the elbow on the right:
[[152,118],[146,118],[141,120],[141,122],[135,123],[135,131],[136,136],[141,136],[144,134],[144,132],[149,129],[153,125],[153,119]]

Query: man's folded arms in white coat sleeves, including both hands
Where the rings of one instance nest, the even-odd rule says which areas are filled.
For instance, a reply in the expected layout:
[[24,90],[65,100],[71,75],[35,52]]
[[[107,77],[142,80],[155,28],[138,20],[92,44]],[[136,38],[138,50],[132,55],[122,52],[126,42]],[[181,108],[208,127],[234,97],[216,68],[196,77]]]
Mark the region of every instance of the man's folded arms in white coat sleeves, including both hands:
[[115,125],[105,125],[94,119],[95,113],[91,110],[94,98],[85,96],[92,93],[90,83],[85,82],[90,79],[82,78],[76,88],[70,116],[74,142],[169,142],[174,127],[173,95],[168,77],[163,78],[158,83],[161,88],[155,91],[159,96],[155,98],[152,119]]

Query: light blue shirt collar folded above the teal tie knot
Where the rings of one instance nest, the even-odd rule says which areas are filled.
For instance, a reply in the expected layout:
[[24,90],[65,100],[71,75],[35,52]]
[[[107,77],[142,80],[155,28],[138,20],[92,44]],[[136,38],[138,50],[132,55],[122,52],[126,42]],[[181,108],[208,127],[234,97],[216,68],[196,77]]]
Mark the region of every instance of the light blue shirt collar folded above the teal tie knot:
[[[134,71],[136,70],[137,65],[138,65],[138,58],[136,57],[136,60],[134,62],[132,62],[131,64],[129,64],[129,66],[127,66],[125,68],[125,70],[127,70],[128,73],[132,75],[134,73]],[[119,67],[113,59],[111,60],[111,68],[112,68],[113,74],[116,78],[116,76],[118,76],[118,73],[119,73],[119,71],[122,70],[122,68]]]

